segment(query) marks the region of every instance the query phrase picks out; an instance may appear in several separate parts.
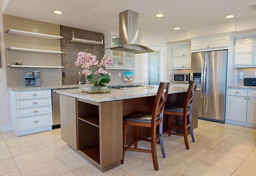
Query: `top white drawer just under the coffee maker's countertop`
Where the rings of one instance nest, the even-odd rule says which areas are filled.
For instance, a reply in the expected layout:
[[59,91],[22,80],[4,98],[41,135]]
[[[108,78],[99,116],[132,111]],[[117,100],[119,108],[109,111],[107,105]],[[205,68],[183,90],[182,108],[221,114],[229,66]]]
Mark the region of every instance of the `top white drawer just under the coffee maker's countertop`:
[[51,90],[16,92],[16,100],[52,97]]

